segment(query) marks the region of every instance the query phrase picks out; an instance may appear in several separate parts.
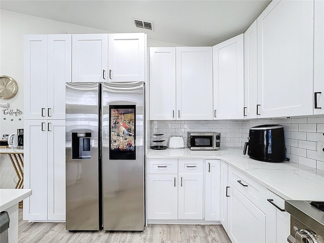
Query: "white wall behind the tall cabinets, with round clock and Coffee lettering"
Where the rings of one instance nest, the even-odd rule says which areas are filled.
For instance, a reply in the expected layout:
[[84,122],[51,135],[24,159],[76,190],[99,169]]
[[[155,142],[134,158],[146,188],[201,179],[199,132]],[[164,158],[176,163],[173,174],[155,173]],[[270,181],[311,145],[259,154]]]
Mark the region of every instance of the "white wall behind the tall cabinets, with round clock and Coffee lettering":
[[[139,29],[139,32],[140,29]],[[23,111],[23,35],[24,34],[60,34],[60,33],[112,33],[103,29],[58,22],[0,10],[0,75],[13,77],[18,84],[17,95],[10,100],[0,100],[0,103],[9,103],[10,109]],[[148,47],[175,47],[182,46],[174,43],[147,40]],[[23,128],[23,114],[19,116],[4,115],[4,108],[0,110],[0,135],[16,133]],[[14,188],[17,180],[16,173],[7,155],[0,156],[0,188]]]

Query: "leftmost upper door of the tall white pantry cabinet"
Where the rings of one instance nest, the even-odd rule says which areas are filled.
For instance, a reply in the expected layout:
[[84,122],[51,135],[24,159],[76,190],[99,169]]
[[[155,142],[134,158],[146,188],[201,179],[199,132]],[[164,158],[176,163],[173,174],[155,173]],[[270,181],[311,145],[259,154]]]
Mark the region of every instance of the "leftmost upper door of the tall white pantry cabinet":
[[24,118],[47,116],[47,35],[24,35]]

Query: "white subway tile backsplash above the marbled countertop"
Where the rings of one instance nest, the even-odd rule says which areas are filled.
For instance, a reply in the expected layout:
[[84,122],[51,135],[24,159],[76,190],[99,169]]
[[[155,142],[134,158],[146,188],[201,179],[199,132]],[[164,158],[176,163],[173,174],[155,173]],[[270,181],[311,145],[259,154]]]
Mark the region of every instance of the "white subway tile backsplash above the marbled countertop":
[[[188,132],[221,133],[221,147],[242,147],[248,141],[249,129],[263,124],[281,124],[285,130],[287,157],[294,163],[324,171],[324,157],[318,156],[318,142],[324,142],[324,116],[249,120],[176,120],[151,121],[151,141],[181,135],[187,146]],[[154,136],[154,134],[164,134]],[[158,145],[151,142],[151,146]]]

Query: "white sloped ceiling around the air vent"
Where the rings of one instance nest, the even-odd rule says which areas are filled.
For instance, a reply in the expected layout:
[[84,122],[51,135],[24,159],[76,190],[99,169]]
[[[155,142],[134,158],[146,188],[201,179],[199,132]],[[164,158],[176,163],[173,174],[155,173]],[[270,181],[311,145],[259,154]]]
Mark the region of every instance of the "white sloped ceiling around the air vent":
[[[111,32],[146,32],[185,46],[214,46],[245,32],[270,2],[1,0],[0,8]],[[135,27],[133,18],[153,21],[154,31]]]

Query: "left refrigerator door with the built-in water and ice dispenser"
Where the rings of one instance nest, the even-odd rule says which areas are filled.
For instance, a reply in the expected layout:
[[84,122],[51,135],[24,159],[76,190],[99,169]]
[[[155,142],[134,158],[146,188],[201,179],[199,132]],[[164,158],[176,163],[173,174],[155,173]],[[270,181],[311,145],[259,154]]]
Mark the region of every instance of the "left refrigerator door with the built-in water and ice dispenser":
[[66,83],[66,230],[99,230],[98,83]]

